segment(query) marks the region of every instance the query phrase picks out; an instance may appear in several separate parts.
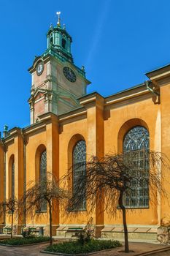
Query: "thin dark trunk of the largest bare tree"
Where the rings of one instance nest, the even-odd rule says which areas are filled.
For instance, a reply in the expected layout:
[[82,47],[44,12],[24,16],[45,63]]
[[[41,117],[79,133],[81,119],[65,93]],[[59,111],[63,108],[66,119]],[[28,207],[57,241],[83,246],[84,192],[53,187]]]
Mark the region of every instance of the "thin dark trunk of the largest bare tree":
[[123,227],[124,227],[124,236],[125,236],[125,252],[129,252],[129,249],[128,249],[128,228],[127,228],[127,224],[126,224],[125,206],[123,206],[123,191],[120,191],[119,206],[120,206],[120,208],[122,210],[122,213],[123,213]]

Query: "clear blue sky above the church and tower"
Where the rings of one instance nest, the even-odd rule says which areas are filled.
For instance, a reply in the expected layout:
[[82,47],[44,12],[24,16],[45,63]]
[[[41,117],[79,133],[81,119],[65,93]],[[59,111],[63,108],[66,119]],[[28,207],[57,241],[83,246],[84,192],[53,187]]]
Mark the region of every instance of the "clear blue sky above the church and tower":
[[88,93],[104,97],[144,82],[170,62],[169,0],[0,0],[0,130],[29,125],[31,67],[50,23],[72,35],[74,63],[85,65]]

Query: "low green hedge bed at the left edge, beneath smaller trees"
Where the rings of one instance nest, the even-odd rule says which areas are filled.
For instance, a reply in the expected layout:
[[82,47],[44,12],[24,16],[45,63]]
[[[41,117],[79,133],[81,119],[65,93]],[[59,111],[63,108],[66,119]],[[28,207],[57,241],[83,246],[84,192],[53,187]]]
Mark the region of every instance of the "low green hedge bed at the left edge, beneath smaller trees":
[[47,236],[37,236],[29,238],[8,238],[0,241],[0,244],[9,244],[9,245],[23,245],[23,244],[36,244],[50,241],[50,238]]

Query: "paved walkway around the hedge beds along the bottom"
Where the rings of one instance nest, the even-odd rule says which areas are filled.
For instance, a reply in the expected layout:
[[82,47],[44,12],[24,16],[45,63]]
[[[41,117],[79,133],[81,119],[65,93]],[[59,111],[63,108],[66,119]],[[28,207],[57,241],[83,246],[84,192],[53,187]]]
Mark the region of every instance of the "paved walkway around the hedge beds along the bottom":
[[[98,252],[93,256],[135,256],[142,252],[151,252],[155,249],[169,248],[167,252],[159,252],[154,256],[170,256],[170,246],[163,246],[161,244],[149,244],[149,243],[129,243],[130,249],[134,252],[125,253],[123,247],[112,249],[107,252]],[[20,246],[20,247],[7,247],[0,246],[0,256],[46,256],[44,253],[40,253],[42,249],[45,249],[47,244],[34,245],[34,246]],[[49,256],[49,255],[47,255]]]

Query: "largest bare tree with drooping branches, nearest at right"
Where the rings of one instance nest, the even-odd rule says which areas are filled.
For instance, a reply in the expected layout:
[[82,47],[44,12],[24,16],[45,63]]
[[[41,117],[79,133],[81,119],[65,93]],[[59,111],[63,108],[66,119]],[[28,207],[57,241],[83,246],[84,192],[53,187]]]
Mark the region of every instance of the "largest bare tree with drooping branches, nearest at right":
[[[145,189],[148,203],[149,200],[157,201],[158,193],[167,196],[162,187],[165,177],[160,172],[163,168],[169,170],[169,159],[159,152],[136,150],[125,154],[107,155],[102,159],[90,157],[89,161],[82,165],[85,165],[86,171],[81,173],[74,184],[74,193],[68,208],[80,208],[83,197],[86,198],[89,212],[94,210],[98,199],[104,200],[104,209],[101,211],[116,214],[117,208],[120,208],[123,216],[125,252],[129,252],[125,200],[128,198],[128,208],[132,209],[132,195],[136,193],[138,196],[139,187]],[[73,170],[76,169],[80,169],[80,164],[74,165],[63,179],[69,181]]]

